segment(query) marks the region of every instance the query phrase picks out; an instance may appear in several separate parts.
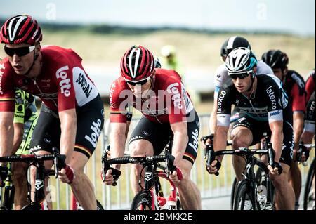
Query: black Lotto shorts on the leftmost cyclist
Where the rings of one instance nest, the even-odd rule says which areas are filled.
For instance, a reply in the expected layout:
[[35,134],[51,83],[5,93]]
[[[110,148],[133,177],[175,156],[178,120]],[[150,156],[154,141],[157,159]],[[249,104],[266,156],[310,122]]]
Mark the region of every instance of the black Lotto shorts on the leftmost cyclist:
[[[90,158],[96,149],[104,124],[104,109],[100,95],[83,107],[77,108],[76,113],[77,132],[74,151],[81,152]],[[29,152],[46,151],[53,153],[53,147],[60,148],[60,134],[58,113],[42,104]]]

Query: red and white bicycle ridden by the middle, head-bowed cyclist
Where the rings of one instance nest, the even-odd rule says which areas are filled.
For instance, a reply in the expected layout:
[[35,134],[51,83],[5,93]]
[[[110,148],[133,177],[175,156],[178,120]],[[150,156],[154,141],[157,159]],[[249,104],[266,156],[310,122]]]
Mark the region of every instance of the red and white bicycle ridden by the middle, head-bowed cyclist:
[[[145,187],[141,185],[141,176],[138,181],[139,186],[142,190],[138,192],[131,203],[131,210],[180,210],[180,197],[178,190],[174,183],[169,179],[169,172],[176,170],[176,166],[173,166],[174,157],[169,152],[169,145],[166,145],[162,154],[152,157],[119,157],[113,159],[107,159],[107,153],[103,154],[103,175],[105,175],[108,169],[112,169],[112,174],[117,172],[117,169],[113,169],[111,164],[141,164],[143,169],[145,169]],[[159,164],[159,162],[164,162],[165,166]],[[157,171],[157,168],[162,169],[162,171]],[[143,170],[142,170],[143,172]],[[114,183],[119,178],[120,172],[114,174]],[[164,193],[162,191],[162,186],[160,185],[159,178],[164,178],[167,180],[171,186],[171,192],[168,198],[169,207],[164,206],[166,198],[164,198]],[[182,176],[178,176],[179,180],[182,180]],[[159,199],[162,202],[159,202]]]

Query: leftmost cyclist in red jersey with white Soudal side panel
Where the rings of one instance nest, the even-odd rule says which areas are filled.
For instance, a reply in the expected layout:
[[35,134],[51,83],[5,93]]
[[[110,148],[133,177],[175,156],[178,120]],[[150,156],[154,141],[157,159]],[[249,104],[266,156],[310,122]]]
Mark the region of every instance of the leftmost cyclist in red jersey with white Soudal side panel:
[[[51,154],[58,147],[66,155],[60,179],[70,184],[84,209],[96,209],[94,188],[84,166],[96,149],[104,111],[82,59],[71,49],[41,47],[41,28],[29,15],[6,20],[0,39],[8,55],[0,64],[0,156],[10,155],[13,148],[14,88],[37,95],[43,103],[30,153]],[[46,163],[51,166],[52,162]],[[1,172],[1,180],[5,176]]]

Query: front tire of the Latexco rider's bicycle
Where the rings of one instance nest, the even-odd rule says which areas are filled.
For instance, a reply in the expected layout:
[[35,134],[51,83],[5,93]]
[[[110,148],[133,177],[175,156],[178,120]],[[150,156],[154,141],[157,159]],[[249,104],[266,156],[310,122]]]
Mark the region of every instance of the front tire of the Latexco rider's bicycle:
[[[248,199],[251,202],[251,209],[246,210],[257,210],[258,206],[256,204],[256,199],[252,195],[251,192],[253,192],[253,189],[251,189],[251,183],[249,183],[249,180],[242,180],[238,183],[237,189],[236,189],[236,195],[234,200],[234,210],[245,210],[244,203],[246,201],[246,197],[248,196]],[[239,202],[241,202],[241,205],[239,206]]]

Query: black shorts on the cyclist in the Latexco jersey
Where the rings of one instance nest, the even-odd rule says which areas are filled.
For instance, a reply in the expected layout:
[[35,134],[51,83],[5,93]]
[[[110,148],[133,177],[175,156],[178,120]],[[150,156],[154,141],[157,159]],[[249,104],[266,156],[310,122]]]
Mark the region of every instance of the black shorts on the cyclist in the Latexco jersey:
[[[244,126],[251,131],[253,136],[251,145],[260,143],[261,138],[263,138],[263,133],[267,133],[268,136],[271,136],[271,130],[268,121],[257,121],[245,114],[239,114],[239,119],[235,121],[232,129],[235,129],[238,126]],[[279,162],[288,164],[290,166],[293,159],[293,148],[293,127],[289,122],[283,121],[283,147]]]

